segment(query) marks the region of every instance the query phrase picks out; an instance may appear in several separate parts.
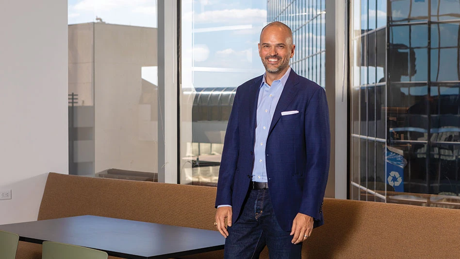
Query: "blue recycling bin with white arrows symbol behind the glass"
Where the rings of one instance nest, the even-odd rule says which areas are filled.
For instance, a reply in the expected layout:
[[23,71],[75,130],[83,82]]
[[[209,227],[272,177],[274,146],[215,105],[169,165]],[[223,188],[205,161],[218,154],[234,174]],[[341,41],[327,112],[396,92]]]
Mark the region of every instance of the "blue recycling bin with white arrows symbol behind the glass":
[[387,147],[386,152],[386,181],[395,191],[404,192],[404,167],[407,165],[403,151]]

